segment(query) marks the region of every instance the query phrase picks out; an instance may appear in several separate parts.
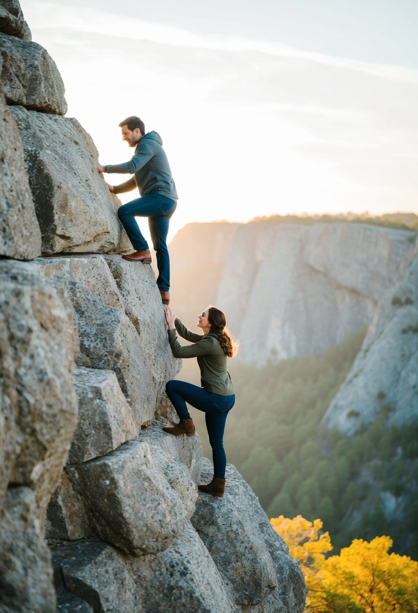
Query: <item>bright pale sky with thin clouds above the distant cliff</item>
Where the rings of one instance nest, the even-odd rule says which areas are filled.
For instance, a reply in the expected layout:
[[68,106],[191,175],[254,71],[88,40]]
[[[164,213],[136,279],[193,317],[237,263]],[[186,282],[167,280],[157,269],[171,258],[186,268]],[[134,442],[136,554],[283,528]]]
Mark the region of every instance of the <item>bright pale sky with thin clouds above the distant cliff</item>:
[[416,0],[21,8],[102,164],[131,158],[126,116],[161,135],[179,194],[169,238],[193,221],[418,213]]

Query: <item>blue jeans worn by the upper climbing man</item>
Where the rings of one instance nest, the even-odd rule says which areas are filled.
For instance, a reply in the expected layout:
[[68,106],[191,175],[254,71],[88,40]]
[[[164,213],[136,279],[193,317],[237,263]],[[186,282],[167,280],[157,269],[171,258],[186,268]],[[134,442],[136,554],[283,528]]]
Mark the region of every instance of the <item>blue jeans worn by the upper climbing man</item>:
[[170,217],[176,210],[177,202],[167,196],[161,196],[158,191],[142,196],[122,205],[118,217],[126,230],[126,234],[135,251],[148,249],[148,243],[143,237],[135,216],[148,217],[151,240],[156,251],[159,289],[168,292],[170,289],[170,257],[167,249],[167,234]]

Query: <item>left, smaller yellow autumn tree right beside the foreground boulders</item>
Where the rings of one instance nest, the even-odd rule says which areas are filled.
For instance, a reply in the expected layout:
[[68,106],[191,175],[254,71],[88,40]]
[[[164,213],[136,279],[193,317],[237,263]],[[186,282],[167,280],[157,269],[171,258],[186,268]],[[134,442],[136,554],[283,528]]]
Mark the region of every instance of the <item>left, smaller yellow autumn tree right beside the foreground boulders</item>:
[[306,611],[309,610],[311,598],[321,588],[319,572],[325,563],[325,554],[332,550],[330,535],[328,532],[320,534],[322,522],[315,519],[308,522],[307,519],[298,515],[293,519],[273,517],[270,524],[283,538],[289,553],[297,560],[303,576],[305,577],[308,595],[306,596]]

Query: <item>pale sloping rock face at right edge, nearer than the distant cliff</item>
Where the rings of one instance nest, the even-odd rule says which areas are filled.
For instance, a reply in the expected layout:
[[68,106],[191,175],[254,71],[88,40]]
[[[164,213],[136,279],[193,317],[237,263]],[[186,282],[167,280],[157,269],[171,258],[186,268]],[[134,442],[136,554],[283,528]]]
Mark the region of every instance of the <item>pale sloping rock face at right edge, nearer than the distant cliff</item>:
[[348,435],[388,409],[390,423],[403,424],[418,413],[418,244],[381,302],[324,423]]

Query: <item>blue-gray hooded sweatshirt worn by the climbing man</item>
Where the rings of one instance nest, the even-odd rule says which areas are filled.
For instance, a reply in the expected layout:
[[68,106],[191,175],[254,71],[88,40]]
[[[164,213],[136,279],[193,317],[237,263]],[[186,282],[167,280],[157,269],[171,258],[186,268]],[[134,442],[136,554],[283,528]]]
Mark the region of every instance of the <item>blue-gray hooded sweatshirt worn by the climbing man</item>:
[[129,162],[108,164],[106,172],[134,175],[126,183],[115,185],[115,194],[131,191],[138,187],[141,196],[158,191],[161,196],[177,200],[176,186],[165,151],[162,148],[158,132],[148,132],[135,147],[135,153]]

